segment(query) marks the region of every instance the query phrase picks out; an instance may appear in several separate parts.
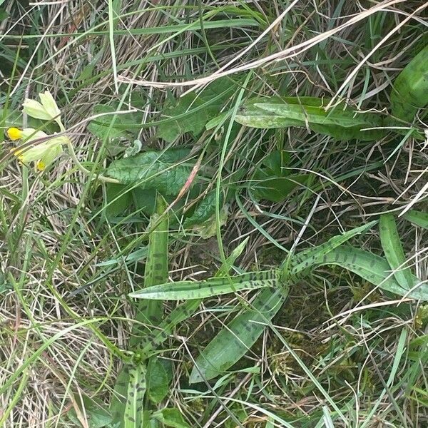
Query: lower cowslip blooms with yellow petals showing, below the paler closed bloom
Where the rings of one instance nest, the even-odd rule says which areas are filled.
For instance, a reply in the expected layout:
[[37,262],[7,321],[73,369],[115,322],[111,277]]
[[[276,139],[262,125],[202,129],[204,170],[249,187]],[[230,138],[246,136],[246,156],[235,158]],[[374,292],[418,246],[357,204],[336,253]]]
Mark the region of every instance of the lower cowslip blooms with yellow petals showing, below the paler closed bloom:
[[[36,131],[34,128],[24,128],[22,131],[18,128],[9,128],[7,135],[11,140],[16,141],[22,139],[22,143],[30,143],[39,138],[49,138],[43,131]],[[68,143],[66,136],[52,136],[46,141],[34,144],[34,146],[25,148],[12,148],[16,158],[21,163],[29,164],[34,162],[37,170],[44,170],[46,166],[55,161],[63,152],[63,144]]]

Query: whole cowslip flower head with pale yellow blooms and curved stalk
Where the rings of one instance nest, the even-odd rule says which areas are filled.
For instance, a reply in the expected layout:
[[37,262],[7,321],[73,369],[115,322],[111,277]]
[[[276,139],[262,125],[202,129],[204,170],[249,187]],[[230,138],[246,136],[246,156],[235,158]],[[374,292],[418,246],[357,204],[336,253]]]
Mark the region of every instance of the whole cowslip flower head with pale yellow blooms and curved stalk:
[[[61,156],[63,147],[66,146],[78,169],[85,174],[91,174],[91,171],[84,168],[78,161],[70,138],[63,135],[66,133],[66,128],[61,122],[61,110],[56,105],[52,94],[44,91],[44,93],[39,93],[39,98],[40,102],[26,98],[22,104],[23,113],[42,121],[55,121],[58,123],[61,133],[48,135],[34,128],[9,128],[6,132],[11,141],[20,142],[19,146],[11,149],[11,152],[23,165],[34,163],[36,170],[42,171]],[[108,183],[119,183],[118,180],[103,177],[103,175],[97,175],[97,178]]]

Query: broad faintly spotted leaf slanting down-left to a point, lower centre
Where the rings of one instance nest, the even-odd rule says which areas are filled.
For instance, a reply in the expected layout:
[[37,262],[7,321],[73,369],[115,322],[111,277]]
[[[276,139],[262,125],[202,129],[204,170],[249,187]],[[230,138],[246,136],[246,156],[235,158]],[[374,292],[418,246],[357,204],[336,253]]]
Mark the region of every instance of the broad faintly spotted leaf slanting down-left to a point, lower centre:
[[229,322],[200,352],[189,382],[213,379],[238,362],[262,335],[266,322],[280,310],[287,291],[287,287],[260,291],[250,303],[250,308]]

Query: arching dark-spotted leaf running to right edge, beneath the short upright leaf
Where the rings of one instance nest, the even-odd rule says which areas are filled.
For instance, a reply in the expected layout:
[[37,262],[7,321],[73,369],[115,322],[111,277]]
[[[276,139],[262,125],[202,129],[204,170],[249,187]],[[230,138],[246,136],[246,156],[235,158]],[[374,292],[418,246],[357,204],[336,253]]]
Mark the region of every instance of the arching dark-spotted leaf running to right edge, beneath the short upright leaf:
[[[382,290],[414,299],[428,300],[427,283],[422,283],[417,277],[412,276],[412,287],[409,289],[403,288],[399,285],[394,275],[391,275],[391,267],[387,260],[369,251],[360,250],[360,248],[342,245],[320,258],[317,264],[339,265],[351,272],[355,272],[373,285],[379,286]],[[409,292],[414,287],[415,289]]]

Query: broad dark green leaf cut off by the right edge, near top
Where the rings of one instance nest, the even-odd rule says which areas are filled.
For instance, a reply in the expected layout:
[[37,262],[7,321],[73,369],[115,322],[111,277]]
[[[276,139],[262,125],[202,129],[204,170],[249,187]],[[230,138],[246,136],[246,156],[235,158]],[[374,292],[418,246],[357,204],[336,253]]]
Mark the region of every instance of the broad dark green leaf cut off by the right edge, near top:
[[412,122],[419,108],[428,104],[428,46],[410,61],[394,81],[391,91],[392,115]]

